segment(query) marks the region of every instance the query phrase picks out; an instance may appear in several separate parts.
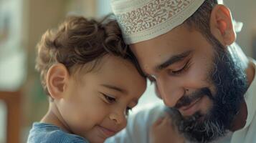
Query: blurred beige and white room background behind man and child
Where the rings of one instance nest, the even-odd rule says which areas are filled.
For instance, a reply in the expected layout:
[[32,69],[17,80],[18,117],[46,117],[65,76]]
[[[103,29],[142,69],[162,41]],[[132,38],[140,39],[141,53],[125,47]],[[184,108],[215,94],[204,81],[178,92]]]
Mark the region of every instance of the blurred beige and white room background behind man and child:
[[[237,43],[256,58],[256,1],[224,3],[244,24]],[[0,0],[0,143],[26,142],[32,123],[47,112],[47,97],[34,70],[35,46],[44,31],[69,14],[100,18],[110,11],[110,0]],[[156,100],[160,102],[148,84],[139,106]]]

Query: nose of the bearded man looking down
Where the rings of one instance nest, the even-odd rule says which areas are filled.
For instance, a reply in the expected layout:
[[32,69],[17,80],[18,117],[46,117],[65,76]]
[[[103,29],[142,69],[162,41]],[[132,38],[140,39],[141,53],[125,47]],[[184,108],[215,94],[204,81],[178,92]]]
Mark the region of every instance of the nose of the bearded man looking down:
[[156,94],[163,99],[164,104],[168,107],[174,107],[184,95],[184,89],[177,82],[170,79],[156,80]]

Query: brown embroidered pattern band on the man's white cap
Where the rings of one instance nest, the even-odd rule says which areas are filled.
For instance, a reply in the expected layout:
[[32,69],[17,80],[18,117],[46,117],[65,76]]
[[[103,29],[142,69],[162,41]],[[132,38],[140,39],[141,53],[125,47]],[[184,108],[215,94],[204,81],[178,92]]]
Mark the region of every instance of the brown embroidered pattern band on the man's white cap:
[[156,0],[136,10],[117,14],[118,22],[125,34],[134,34],[169,21],[177,16],[193,0]]

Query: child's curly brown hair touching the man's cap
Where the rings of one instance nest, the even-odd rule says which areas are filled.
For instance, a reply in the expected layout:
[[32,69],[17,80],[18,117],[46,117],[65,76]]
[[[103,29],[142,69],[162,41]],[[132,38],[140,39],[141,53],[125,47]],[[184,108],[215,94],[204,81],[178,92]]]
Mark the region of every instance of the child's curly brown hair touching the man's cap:
[[43,34],[37,44],[37,54],[36,69],[48,95],[46,75],[56,63],[64,64],[70,74],[81,69],[89,72],[103,56],[112,54],[130,60],[143,75],[112,16],[106,16],[102,21],[82,16],[68,17],[57,29],[49,29]]

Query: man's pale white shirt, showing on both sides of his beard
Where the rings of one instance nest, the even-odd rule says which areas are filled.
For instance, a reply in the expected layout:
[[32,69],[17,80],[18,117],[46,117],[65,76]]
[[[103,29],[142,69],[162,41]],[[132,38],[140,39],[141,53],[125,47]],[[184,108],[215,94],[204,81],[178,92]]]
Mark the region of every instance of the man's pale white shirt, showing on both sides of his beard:
[[[256,143],[256,78],[253,79],[245,94],[245,102],[248,113],[245,127],[234,133],[229,132],[226,137],[212,143]],[[106,142],[148,143],[148,129],[163,113],[163,104],[158,103],[145,108],[129,117],[128,126]]]

